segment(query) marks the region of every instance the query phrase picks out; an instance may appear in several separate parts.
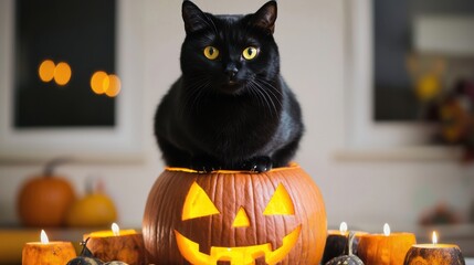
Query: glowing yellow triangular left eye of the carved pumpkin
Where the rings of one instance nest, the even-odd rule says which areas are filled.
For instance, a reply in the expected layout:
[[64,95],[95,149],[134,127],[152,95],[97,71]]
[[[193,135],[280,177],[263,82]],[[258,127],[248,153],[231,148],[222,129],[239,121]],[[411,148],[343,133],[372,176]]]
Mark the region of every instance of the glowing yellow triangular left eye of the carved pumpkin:
[[219,210],[206,191],[198,183],[192,183],[188,191],[188,195],[186,195],[181,220],[185,221],[219,213]]

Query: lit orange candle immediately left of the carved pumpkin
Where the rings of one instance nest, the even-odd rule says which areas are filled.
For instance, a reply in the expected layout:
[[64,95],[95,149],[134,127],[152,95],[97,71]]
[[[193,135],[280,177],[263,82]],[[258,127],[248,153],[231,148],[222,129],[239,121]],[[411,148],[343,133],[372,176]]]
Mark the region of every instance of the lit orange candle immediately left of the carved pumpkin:
[[135,230],[120,230],[113,223],[112,230],[85,234],[84,241],[87,239],[87,248],[103,262],[146,264],[144,237]]

